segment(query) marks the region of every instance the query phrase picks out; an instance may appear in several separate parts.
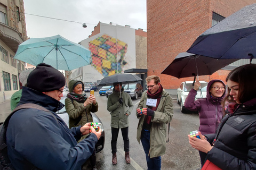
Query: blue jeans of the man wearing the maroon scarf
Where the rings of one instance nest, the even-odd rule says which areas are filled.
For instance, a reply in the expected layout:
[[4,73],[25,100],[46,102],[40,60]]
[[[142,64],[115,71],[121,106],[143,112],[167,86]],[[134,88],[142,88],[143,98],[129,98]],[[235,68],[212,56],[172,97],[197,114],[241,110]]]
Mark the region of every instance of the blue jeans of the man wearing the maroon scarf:
[[146,154],[148,170],[150,169],[161,170],[161,162],[162,162],[161,156],[154,157],[154,158],[150,158],[148,156],[149,149],[150,149],[150,131],[142,129],[140,140]]

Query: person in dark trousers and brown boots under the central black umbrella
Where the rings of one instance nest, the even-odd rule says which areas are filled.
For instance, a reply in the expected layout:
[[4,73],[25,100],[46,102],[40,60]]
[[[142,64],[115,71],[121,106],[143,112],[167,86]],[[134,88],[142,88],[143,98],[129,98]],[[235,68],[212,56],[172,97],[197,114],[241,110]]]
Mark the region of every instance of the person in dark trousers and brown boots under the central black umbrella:
[[116,158],[116,142],[118,137],[119,128],[121,128],[123,140],[124,140],[124,151],[125,151],[125,162],[131,163],[130,159],[130,140],[128,137],[129,132],[129,115],[132,112],[133,104],[129,94],[124,92],[122,83],[114,83],[113,94],[108,97],[108,111],[111,114],[111,149],[112,149],[112,164],[117,163]]

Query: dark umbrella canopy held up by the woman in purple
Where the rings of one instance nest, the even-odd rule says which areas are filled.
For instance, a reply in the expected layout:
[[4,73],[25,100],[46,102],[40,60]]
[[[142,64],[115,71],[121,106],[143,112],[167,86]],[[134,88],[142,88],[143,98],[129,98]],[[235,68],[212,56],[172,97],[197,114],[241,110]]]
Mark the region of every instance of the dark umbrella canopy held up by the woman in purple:
[[176,78],[187,78],[195,75],[211,75],[215,71],[231,64],[238,59],[216,59],[191,53],[180,53],[161,74]]

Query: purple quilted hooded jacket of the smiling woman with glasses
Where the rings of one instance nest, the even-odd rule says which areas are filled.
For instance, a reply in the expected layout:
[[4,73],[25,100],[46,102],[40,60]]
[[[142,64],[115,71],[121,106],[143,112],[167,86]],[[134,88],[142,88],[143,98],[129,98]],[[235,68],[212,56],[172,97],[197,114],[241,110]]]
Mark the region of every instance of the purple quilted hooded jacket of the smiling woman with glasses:
[[196,101],[197,91],[191,89],[184,104],[190,111],[198,111],[200,121],[199,131],[202,134],[215,133],[222,120],[223,113],[225,113],[221,106],[221,100],[226,96],[227,90],[219,98],[212,97],[209,92],[211,85],[215,81],[221,81],[225,84],[222,80],[211,80],[207,85],[206,98],[197,99]]

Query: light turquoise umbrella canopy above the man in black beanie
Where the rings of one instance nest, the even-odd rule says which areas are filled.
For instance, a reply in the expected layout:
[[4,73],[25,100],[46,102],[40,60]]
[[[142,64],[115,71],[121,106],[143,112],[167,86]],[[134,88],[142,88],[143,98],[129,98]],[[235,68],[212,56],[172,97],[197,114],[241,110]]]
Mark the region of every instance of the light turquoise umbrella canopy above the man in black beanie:
[[19,45],[14,58],[32,65],[46,63],[68,71],[91,64],[89,49],[60,35],[26,40]]

